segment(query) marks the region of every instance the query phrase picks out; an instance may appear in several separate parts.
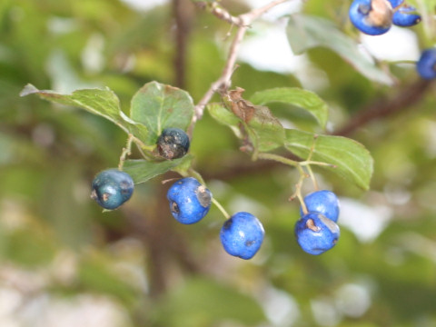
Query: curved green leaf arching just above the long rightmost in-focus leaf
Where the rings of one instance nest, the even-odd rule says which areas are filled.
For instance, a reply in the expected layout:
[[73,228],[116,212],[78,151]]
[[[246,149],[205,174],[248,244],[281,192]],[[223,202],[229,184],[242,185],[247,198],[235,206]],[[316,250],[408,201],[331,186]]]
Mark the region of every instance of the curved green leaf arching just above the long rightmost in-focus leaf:
[[312,114],[322,128],[327,124],[329,115],[327,104],[317,94],[298,87],[278,87],[256,92],[250,101],[259,105],[274,102],[296,105]]

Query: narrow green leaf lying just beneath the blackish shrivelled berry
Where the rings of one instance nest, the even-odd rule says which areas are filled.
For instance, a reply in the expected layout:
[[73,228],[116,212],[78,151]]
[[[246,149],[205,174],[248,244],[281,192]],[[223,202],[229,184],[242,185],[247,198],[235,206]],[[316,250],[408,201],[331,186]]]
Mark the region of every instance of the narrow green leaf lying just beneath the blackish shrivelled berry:
[[178,166],[186,166],[192,160],[191,155],[175,160],[165,160],[162,162],[149,162],[146,160],[126,160],[124,162],[124,172],[129,173],[134,179],[134,183],[145,183],[148,180],[166,173]]

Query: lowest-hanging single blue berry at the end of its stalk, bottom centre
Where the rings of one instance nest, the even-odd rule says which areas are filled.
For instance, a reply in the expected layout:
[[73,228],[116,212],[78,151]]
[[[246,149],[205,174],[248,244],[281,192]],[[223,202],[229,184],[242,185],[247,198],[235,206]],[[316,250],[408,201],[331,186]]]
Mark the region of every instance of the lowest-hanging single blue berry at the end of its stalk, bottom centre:
[[234,213],[221,229],[220,238],[226,253],[248,260],[263,243],[263,225],[252,213]]

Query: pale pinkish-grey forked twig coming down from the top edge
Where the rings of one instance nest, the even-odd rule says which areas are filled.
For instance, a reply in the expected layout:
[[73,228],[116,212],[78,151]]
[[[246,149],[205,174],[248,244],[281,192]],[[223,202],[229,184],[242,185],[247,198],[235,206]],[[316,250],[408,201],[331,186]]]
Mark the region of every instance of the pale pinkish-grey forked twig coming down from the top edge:
[[[229,54],[227,56],[226,63],[223,68],[223,73],[221,76],[211,85],[211,87],[206,91],[203,95],[203,98],[200,102],[195,105],[195,115],[193,117],[193,124],[199,119],[202,118],[205,106],[211,101],[213,94],[215,92],[220,92],[227,89],[231,84],[232,74],[236,64],[236,58],[243,41],[243,36],[245,35],[248,27],[253,23],[253,21],[259,18],[261,15],[266,13],[268,10],[272,9],[272,7],[276,5],[280,5],[290,0],[275,0],[269,3],[268,5],[263,5],[260,8],[253,9],[252,11],[245,13],[243,15],[239,15],[234,17],[233,15],[228,14],[223,8],[220,8],[219,18],[238,26],[238,30],[233,37],[232,45],[230,46]],[[215,6],[216,9],[216,6]],[[223,14],[227,13],[227,14]],[[217,15],[216,10],[213,12],[214,15]],[[192,124],[192,125],[193,125]]]

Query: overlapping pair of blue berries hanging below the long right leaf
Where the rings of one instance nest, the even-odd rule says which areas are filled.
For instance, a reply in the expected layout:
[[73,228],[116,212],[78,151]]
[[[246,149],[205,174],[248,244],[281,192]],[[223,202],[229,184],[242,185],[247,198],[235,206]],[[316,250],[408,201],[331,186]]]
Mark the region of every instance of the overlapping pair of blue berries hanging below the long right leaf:
[[295,237],[302,250],[318,255],[338,242],[340,231],[336,224],[339,201],[331,191],[316,191],[304,197],[302,218],[295,223]]

